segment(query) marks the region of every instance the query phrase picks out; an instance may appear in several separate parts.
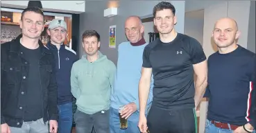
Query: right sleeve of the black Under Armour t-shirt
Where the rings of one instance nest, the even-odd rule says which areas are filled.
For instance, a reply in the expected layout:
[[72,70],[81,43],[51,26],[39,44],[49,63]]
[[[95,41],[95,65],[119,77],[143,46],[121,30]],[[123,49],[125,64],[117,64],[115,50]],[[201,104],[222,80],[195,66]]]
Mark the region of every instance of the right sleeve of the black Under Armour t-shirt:
[[196,40],[196,39],[191,39],[190,44],[189,44],[189,54],[191,58],[191,62],[193,64],[200,63],[202,61],[205,61],[205,52],[203,52],[202,45]]

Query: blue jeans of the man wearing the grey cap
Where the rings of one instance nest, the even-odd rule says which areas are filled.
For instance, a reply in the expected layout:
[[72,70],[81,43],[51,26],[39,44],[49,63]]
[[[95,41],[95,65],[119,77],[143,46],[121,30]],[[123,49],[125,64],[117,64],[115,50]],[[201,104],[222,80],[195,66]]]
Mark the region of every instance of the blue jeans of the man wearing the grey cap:
[[58,105],[59,121],[58,132],[70,133],[73,122],[72,102]]

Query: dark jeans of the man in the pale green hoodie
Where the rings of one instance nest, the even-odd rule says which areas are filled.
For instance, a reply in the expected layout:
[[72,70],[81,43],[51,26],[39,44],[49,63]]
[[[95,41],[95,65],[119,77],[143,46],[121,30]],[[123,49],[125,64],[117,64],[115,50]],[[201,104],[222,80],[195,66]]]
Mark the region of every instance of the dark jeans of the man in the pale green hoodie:
[[85,114],[76,110],[74,114],[76,133],[90,133],[92,127],[96,133],[109,133],[109,118],[109,110],[101,110],[95,114]]

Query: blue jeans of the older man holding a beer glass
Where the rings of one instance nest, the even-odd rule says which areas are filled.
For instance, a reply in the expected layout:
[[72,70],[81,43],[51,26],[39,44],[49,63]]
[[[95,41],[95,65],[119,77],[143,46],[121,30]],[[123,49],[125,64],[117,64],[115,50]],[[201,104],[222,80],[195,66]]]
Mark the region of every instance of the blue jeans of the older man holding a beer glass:
[[139,112],[136,111],[128,118],[128,128],[121,130],[118,109],[110,108],[110,133],[140,133],[138,123]]

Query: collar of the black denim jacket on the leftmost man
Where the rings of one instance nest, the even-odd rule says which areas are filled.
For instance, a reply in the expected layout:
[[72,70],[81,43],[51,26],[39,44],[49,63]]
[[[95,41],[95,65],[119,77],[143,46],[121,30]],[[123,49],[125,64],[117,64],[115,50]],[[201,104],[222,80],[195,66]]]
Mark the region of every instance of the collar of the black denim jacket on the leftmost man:
[[[18,52],[20,54],[20,46],[22,45],[20,43],[20,39],[22,38],[22,34],[19,34],[18,37],[16,37],[16,39],[13,39],[10,43],[10,52]],[[46,46],[43,45],[42,41],[38,40],[39,43],[39,47],[40,47],[40,51],[41,54],[51,54],[51,51],[49,50],[49,48],[47,48]]]

